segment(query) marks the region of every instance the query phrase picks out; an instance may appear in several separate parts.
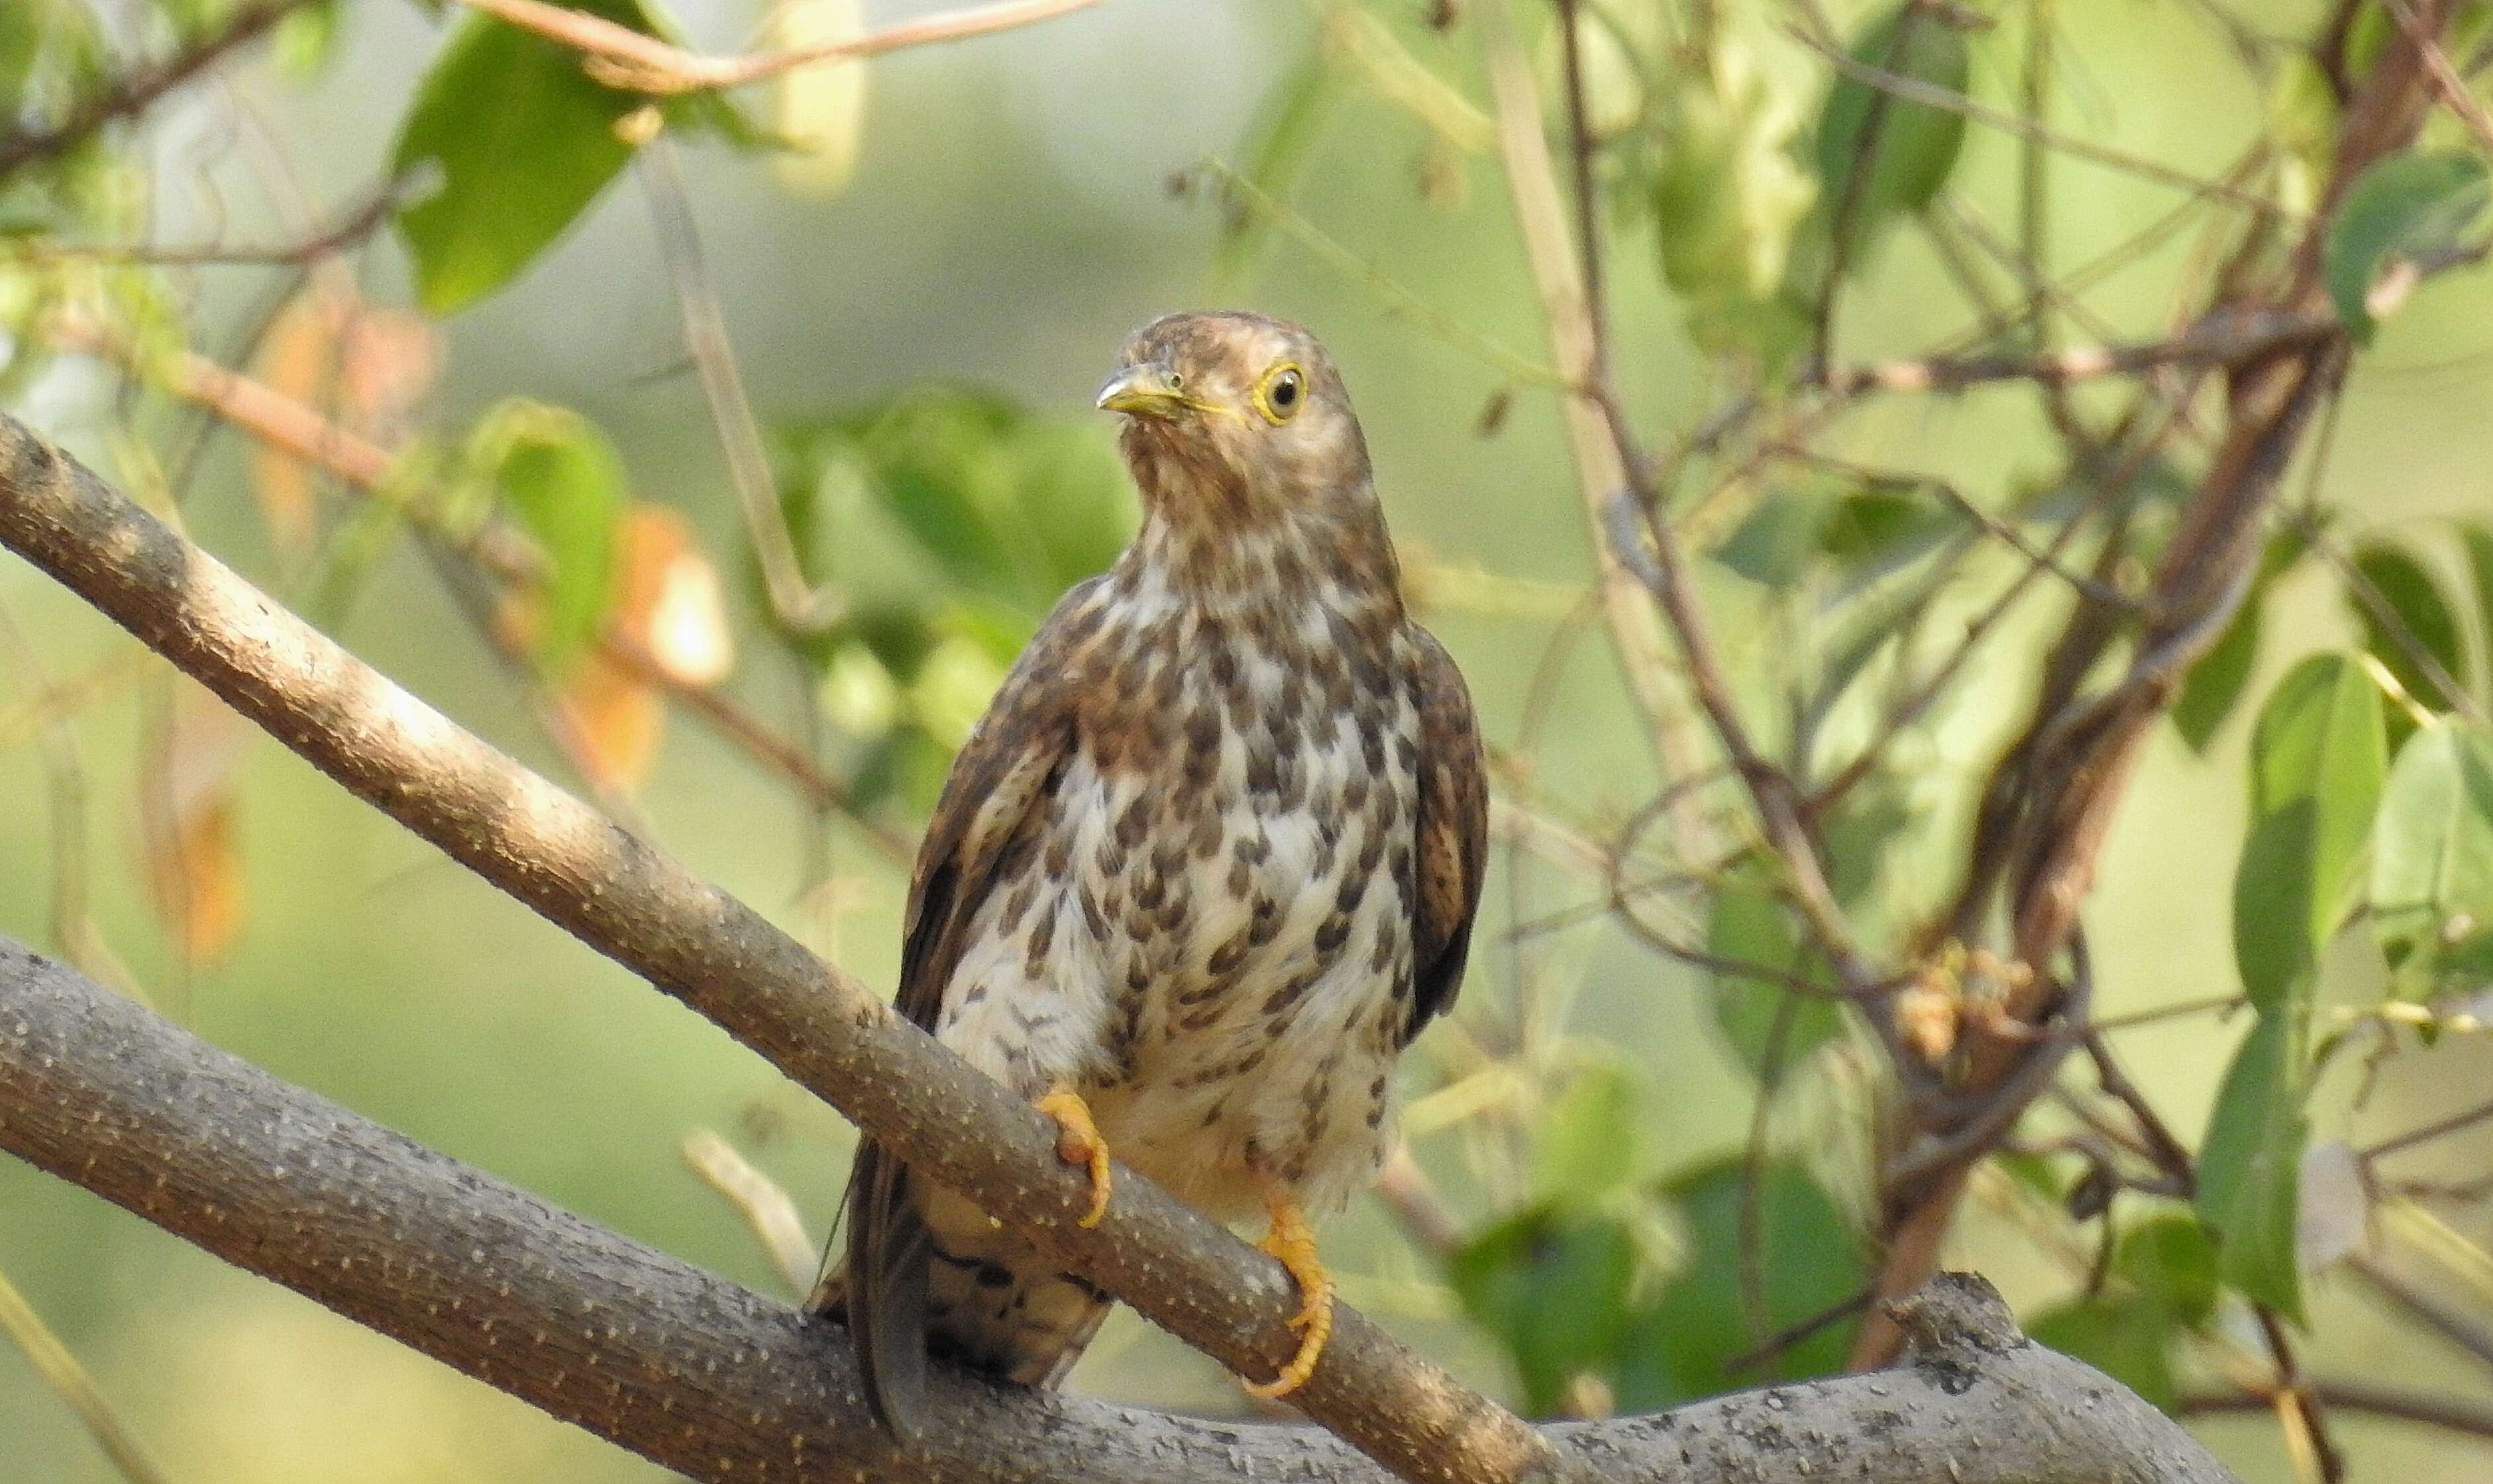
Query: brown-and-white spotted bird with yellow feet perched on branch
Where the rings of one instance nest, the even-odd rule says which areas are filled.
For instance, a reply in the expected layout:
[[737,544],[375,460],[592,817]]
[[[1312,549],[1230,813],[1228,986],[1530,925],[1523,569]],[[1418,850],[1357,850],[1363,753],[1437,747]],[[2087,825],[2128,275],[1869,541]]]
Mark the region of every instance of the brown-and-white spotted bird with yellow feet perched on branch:
[[[1404,615],[1341,373],[1299,326],[1172,314],[1119,413],[1142,530],[1072,588],[970,735],[917,852],[897,1008],[1217,1220],[1266,1213],[1314,1374],[1331,1280],[1309,1210],[1386,1148],[1391,1068],[1463,979],[1488,802],[1471,697]],[[925,1357],[1055,1384],[1107,1295],[863,1143],[845,1315],[868,1399],[925,1412]]]

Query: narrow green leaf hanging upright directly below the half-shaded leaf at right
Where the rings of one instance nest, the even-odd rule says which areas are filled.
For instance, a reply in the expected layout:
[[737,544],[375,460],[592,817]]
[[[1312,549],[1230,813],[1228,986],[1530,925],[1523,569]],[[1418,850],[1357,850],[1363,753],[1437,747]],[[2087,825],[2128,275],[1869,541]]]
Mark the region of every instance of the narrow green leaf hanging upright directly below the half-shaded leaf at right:
[[2216,1091],[2199,1145],[2199,1218],[2216,1230],[2224,1282],[2301,1320],[2304,1285],[2294,1262],[2301,1213],[2304,1053],[2294,1016],[2259,1016]]

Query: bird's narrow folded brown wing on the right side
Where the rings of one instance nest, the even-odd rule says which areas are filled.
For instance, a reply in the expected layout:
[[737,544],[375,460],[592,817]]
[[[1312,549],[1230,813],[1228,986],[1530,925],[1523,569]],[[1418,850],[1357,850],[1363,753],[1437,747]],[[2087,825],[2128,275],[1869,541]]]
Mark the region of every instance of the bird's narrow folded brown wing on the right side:
[[1453,1006],[1488,866],[1488,764],[1471,690],[1436,635],[1411,625],[1419,697],[1419,904],[1411,921],[1411,1023],[1404,1043]]

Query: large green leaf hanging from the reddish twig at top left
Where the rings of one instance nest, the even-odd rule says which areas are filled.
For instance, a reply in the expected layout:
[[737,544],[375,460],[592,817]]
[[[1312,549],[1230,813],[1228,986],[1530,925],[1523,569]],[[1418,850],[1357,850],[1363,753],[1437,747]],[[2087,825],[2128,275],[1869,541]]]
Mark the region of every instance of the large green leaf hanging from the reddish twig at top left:
[[[581,0],[646,27],[628,0]],[[631,159],[616,122],[641,107],[601,87],[581,55],[486,15],[466,17],[416,90],[394,169],[434,174],[399,207],[416,299],[451,314],[501,289],[561,237]]]

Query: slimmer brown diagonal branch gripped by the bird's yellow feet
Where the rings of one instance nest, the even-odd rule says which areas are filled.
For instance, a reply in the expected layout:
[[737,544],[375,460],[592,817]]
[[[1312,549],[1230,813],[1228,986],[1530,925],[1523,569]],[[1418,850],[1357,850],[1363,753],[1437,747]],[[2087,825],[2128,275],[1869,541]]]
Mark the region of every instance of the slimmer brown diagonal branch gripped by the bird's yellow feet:
[[[451,859],[678,996],[910,1165],[975,1190],[1067,1270],[1242,1374],[1296,1355],[1296,1287],[1194,1208],[1119,1170],[1089,1180],[1055,1123],[880,996],[551,782],[361,665],[92,473],[0,416],[0,545],[47,570],[307,762]],[[1294,1397],[1406,1479],[1506,1484],[1573,1469],[1503,1407],[1341,1307]]]

